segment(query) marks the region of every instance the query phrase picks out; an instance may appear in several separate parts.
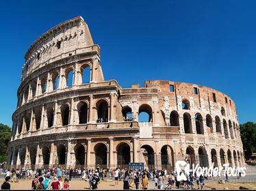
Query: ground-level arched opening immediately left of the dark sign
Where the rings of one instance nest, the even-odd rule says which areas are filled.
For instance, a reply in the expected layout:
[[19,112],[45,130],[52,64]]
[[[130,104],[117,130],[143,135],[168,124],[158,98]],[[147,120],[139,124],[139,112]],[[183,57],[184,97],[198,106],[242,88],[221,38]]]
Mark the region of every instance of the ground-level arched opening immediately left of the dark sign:
[[127,168],[130,162],[130,147],[127,143],[120,143],[117,148],[117,164],[121,169]]

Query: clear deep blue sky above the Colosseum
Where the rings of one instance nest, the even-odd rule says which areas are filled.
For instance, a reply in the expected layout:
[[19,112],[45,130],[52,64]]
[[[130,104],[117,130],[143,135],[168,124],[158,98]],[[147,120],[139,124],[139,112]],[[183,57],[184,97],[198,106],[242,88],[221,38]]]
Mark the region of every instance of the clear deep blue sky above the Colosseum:
[[30,44],[83,16],[106,80],[196,83],[227,93],[240,123],[256,122],[256,1],[1,1],[0,123],[12,126]]

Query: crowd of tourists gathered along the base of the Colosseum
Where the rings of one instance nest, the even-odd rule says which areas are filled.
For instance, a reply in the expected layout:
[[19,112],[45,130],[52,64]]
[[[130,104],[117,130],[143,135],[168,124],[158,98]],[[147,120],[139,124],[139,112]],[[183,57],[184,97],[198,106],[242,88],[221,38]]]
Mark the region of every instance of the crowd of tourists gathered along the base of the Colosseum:
[[[2,189],[10,189],[10,181],[18,182],[19,179],[31,179],[31,189],[34,190],[69,190],[71,188],[70,181],[73,178],[78,178],[83,181],[88,181],[90,189],[95,190],[100,181],[104,179],[112,179],[115,186],[118,186],[120,181],[123,181],[123,189],[129,190],[130,188],[143,189],[149,188],[149,181],[154,182],[155,189],[203,189],[205,185],[205,177],[196,174],[185,175],[183,179],[177,179],[176,171],[168,172],[163,170],[131,170],[131,169],[81,169],[81,168],[46,168],[37,169],[12,169],[5,172],[5,182]],[[152,183],[153,183],[152,182]],[[9,185],[8,185],[9,184]],[[152,186],[151,186],[152,187]],[[152,188],[151,188],[152,189]]]

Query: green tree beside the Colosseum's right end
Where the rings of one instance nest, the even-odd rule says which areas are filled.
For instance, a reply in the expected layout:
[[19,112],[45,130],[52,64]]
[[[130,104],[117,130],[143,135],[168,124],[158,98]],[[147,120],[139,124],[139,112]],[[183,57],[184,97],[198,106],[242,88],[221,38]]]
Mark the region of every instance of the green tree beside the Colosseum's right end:
[[240,124],[240,134],[244,145],[244,153],[251,156],[256,152],[256,123],[251,121]]

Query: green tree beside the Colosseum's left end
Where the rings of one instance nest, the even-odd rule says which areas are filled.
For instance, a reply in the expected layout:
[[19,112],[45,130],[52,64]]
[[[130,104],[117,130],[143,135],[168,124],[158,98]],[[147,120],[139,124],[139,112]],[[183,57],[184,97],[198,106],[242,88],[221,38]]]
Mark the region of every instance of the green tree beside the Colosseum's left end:
[[0,162],[5,161],[7,158],[7,145],[11,136],[11,128],[0,123]]

